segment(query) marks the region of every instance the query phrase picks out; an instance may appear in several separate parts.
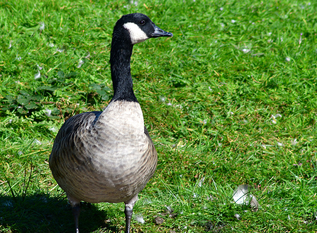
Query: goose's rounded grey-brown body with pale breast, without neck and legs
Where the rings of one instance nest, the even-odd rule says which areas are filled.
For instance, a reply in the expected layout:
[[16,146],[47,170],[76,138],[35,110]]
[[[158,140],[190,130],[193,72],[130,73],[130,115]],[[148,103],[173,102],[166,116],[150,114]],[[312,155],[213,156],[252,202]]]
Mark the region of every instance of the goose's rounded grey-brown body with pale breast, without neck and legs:
[[90,202],[124,202],[153,176],[157,152],[139,103],[110,102],[104,112],[69,118],[56,136],[50,166],[70,196]]

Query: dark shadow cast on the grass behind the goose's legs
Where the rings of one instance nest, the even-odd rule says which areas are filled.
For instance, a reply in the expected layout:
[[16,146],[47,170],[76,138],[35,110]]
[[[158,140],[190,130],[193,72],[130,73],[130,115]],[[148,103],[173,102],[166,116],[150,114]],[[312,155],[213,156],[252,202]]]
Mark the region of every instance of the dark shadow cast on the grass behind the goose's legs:
[[[79,217],[80,233],[106,228],[118,229],[107,219],[112,213],[100,211],[94,205],[82,203]],[[22,197],[0,195],[0,232],[13,233],[75,233],[74,219],[67,200],[46,194]]]

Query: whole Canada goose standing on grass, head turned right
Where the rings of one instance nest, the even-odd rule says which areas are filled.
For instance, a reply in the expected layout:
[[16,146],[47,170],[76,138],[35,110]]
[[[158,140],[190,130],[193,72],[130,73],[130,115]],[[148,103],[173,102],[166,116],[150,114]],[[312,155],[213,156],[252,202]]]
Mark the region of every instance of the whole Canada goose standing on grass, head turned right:
[[144,126],[130,73],[133,45],[173,36],[141,13],[123,15],[115,24],[110,52],[113,98],[103,112],[70,117],[59,129],[50,168],[72,206],[76,233],[80,201],[124,202],[130,232],[138,193],[153,176],[158,155]]

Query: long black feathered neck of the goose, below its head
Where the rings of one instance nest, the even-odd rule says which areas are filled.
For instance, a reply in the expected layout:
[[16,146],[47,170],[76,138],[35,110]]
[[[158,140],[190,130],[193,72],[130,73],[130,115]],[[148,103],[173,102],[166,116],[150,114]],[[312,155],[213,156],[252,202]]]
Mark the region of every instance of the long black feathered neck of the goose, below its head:
[[138,102],[133,92],[130,72],[130,58],[133,45],[130,39],[116,38],[113,35],[110,52],[111,79],[113,85],[113,98],[111,101]]

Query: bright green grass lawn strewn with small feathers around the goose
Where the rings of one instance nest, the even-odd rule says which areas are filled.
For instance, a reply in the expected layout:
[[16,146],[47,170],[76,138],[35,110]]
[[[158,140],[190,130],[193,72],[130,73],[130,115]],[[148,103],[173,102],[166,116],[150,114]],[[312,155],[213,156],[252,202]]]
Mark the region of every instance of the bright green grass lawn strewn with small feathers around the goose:
[[[74,232],[48,165],[53,139],[111,99],[112,28],[131,12],[174,34],[131,60],[159,154],[132,233],[316,233],[313,0],[0,1],[0,232]],[[243,183],[257,211],[233,202]],[[122,210],[84,204],[81,232],[122,232]]]

